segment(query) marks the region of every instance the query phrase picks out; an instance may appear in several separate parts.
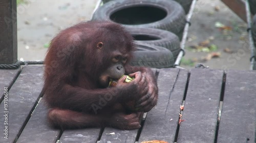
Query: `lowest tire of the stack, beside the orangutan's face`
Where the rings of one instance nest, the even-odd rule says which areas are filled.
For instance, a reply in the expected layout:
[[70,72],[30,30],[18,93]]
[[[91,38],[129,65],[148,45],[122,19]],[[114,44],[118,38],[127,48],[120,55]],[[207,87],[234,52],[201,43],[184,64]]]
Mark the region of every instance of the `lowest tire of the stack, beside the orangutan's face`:
[[151,68],[173,67],[173,53],[168,49],[141,43],[136,43],[136,47],[131,65]]

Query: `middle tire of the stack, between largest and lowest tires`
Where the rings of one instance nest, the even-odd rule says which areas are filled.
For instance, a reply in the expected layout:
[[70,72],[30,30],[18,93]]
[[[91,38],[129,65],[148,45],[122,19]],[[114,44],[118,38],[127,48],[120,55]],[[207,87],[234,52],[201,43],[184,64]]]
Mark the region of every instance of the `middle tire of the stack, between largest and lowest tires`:
[[172,51],[176,60],[180,52],[180,40],[175,34],[155,28],[126,28],[126,30],[136,42],[161,46]]

